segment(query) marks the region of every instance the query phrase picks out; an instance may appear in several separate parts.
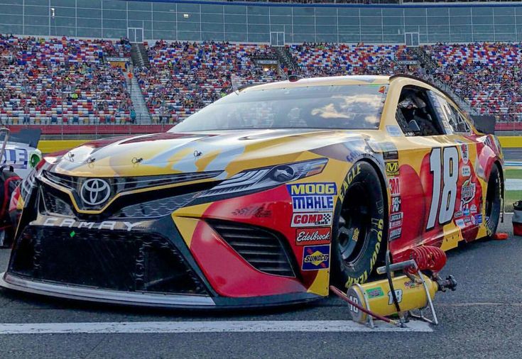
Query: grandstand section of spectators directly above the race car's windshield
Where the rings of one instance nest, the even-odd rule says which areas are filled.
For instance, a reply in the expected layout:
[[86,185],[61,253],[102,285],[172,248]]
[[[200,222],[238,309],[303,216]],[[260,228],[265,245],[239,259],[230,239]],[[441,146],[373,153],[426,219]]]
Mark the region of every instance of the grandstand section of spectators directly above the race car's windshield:
[[157,41],[148,50],[150,67],[134,71],[152,120],[176,123],[234,86],[280,79],[251,57],[273,55],[268,45]]

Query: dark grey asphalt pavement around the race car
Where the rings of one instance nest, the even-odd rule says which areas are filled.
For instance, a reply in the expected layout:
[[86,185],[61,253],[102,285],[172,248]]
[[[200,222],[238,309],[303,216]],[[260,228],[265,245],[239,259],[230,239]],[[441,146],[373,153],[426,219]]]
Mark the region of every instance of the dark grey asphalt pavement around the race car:
[[[448,253],[442,275],[456,292],[439,293],[441,324],[433,332],[229,332],[0,334],[0,358],[521,358],[522,237],[511,216],[506,241],[478,241]],[[9,250],[0,250],[0,271]],[[330,297],[316,304],[266,311],[181,312],[134,309],[16,294],[0,289],[2,324],[107,322],[348,320],[347,305]]]

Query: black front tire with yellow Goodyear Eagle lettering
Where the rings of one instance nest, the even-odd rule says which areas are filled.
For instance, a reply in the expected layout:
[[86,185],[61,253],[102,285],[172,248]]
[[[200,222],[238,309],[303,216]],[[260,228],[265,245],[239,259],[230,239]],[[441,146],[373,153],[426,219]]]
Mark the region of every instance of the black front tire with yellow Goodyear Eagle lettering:
[[368,280],[376,267],[384,234],[384,191],[376,170],[357,162],[339,189],[332,233],[332,278],[349,287]]

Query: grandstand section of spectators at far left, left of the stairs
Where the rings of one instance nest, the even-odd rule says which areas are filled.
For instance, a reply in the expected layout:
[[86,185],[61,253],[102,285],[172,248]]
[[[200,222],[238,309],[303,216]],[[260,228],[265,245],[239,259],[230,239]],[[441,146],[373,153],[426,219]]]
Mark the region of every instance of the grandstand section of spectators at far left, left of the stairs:
[[105,55],[128,43],[0,35],[2,123],[125,123],[133,110],[124,71]]

